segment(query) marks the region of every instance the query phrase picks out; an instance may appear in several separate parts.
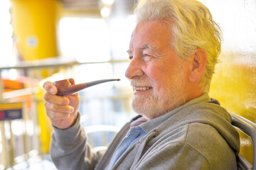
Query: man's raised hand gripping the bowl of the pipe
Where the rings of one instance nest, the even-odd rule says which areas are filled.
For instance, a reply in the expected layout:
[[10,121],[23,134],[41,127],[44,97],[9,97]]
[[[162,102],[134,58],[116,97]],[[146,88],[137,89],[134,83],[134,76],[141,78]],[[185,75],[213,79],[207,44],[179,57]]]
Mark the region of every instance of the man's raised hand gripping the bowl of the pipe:
[[[73,79],[69,79],[71,84],[75,84]],[[43,84],[46,113],[51,123],[59,129],[69,128],[78,117],[80,97],[77,94],[70,96],[56,96],[58,89],[50,81]]]

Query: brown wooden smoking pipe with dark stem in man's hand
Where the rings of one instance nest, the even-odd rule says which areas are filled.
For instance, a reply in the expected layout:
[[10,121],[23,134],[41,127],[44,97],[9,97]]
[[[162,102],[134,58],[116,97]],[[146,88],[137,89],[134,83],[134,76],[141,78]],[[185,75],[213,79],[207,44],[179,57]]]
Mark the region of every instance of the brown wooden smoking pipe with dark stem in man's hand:
[[75,84],[72,85],[68,79],[63,79],[60,81],[54,81],[54,85],[57,87],[58,92],[56,95],[58,96],[68,96],[71,94],[75,94],[76,92],[85,89],[90,86],[95,86],[97,84],[102,84],[108,81],[119,81],[120,79],[102,79],[102,80],[96,80],[96,81],[91,81],[88,83],[83,83],[83,84]]

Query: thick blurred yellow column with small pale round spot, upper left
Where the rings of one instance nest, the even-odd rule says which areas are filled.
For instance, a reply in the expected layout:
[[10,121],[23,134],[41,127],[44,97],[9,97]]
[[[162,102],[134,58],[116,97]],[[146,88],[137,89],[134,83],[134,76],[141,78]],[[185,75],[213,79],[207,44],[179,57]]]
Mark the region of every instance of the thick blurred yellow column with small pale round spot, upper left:
[[22,61],[58,56],[55,0],[11,0],[11,22]]

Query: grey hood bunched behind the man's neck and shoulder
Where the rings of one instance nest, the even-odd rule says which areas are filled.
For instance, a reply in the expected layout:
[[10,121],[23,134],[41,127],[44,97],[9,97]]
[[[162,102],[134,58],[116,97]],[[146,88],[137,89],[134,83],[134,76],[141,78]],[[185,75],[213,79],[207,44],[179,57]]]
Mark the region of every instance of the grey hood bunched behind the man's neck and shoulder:
[[171,130],[175,130],[178,127],[192,123],[207,124],[219,132],[226,142],[228,142],[228,145],[233,148],[236,155],[239,154],[239,133],[231,124],[232,118],[230,114],[225,108],[219,105],[218,101],[211,99],[209,103],[196,103],[185,109],[186,111],[181,110],[175,115],[172,115],[171,118],[159,125],[156,129],[159,132],[164,132],[166,126],[169,125],[171,125]]

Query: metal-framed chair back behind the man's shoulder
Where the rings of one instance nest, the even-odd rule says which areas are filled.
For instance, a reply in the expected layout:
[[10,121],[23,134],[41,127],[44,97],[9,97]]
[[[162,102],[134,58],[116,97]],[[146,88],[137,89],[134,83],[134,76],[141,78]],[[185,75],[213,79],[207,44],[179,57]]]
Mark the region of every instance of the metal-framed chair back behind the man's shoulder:
[[253,159],[252,165],[242,157],[241,154],[238,155],[238,170],[256,170],[256,124],[252,123],[250,120],[243,118],[240,115],[229,112],[232,117],[232,125],[238,130],[245,133],[252,139],[253,145]]

